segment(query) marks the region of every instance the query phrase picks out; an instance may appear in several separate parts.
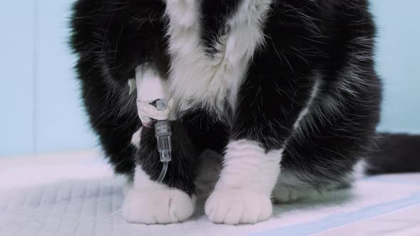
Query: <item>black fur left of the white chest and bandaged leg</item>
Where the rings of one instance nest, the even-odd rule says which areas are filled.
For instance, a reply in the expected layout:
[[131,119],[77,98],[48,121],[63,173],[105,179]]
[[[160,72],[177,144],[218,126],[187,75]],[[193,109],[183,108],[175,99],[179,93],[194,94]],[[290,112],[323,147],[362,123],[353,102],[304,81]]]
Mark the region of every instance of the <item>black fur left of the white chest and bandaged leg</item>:
[[159,53],[165,42],[164,4],[84,0],[73,11],[71,44],[79,56],[76,69],[90,124],[115,171],[130,173],[135,163],[130,139],[140,122],[135,98],[127,105],[127,79],[134,77],[137,65],[166,60]]

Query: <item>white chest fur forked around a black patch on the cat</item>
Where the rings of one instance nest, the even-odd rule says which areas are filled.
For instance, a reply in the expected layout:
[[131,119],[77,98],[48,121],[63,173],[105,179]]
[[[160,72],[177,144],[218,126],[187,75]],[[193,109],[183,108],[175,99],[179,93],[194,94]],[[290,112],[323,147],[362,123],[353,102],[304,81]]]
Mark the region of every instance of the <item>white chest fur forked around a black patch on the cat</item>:
[[243,0],[226,23],[229,33],[215,42],[219,51],[206,55],[201,43],[198,0],[167,0],[169,90],[180,111],[203,107],[223,114],[233,109],[253,53],[263,44],[263,21],[273,0]]

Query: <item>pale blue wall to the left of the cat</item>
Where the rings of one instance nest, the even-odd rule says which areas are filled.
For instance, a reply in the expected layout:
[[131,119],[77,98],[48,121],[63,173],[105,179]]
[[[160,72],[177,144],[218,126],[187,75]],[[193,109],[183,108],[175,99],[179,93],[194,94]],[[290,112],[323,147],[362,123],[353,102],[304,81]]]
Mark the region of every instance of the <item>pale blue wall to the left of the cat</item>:
[[0,9],[8,32],[0,36],[0,156],[96,146],[66,43],[70,2],[7,1]]

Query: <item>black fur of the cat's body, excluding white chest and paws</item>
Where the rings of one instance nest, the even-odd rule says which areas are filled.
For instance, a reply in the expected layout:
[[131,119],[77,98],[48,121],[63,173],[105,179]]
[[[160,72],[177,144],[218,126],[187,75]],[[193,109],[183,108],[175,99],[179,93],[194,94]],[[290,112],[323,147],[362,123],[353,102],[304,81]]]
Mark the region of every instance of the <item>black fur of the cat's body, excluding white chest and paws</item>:
[[[226,31],[226,17],[238,2],[202,1],[201,40],[208,53],[215,53],[214,40]],[[237,108],[227,110],[229,120],[195,109],[173,122],[174,161],[164,183],[194,193],[196,157],[204,149],[221,152],[236,139],[259,141],[266,151],[286,145],[283,168],[317,188],[345,181],[377,140],[381,83],[367,5],[367,0],[274,1],[264,26],[266,43],[253,57]],[[71,45],[79,56],[83,100],[117,173],[131,173],[135,163],[153,179],[160,171],[151,129],[143,130],[137,154],[130,146],[141,124],[127,80],[145,62],[167,75],[164,8],[157,0],[79,0],[74,7]],[[322,81],[319,95],[295,130],[316,76]]]

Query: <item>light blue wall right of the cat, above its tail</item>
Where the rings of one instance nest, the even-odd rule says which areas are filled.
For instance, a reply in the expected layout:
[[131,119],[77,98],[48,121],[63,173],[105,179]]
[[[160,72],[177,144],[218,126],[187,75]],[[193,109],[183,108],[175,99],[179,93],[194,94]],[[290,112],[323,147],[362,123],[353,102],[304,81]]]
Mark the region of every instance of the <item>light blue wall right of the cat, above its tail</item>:
[[420,133],[420,1],[373,0],[377,71],[384,80],[379,130]]

